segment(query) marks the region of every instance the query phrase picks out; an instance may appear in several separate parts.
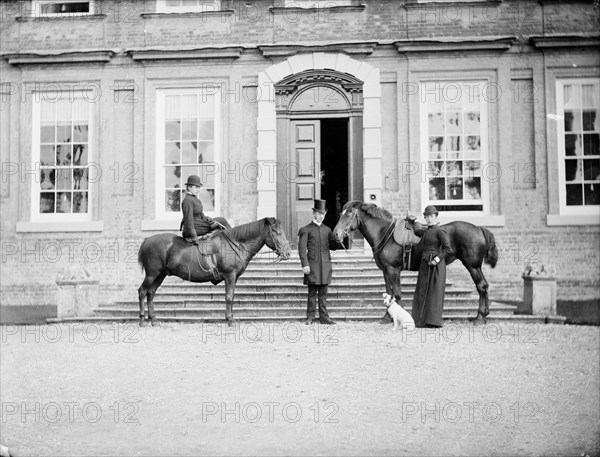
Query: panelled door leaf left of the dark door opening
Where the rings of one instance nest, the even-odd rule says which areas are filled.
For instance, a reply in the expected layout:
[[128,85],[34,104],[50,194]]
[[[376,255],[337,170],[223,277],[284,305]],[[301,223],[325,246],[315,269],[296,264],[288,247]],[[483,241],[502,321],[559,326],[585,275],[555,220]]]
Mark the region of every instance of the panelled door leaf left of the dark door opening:
[[[292,162],[295,173],[288,173],[292,181],[292,230],[296,236],[298,229],[312,220],[312,207],[315,198],[321,198],[321,130],[320,121],[292,121]],[[291,170],[290,170],[291,171]],[[297,175],[296,175],[297,174]],[[296,175],[296,176],[293,176]]]

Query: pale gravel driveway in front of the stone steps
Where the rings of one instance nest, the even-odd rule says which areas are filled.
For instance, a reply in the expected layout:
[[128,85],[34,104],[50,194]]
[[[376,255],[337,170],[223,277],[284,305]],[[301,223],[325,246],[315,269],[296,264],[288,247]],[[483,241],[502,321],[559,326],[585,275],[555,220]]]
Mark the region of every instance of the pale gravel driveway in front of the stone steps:
[[3,326],[17,456],[599,455],[599,329]]

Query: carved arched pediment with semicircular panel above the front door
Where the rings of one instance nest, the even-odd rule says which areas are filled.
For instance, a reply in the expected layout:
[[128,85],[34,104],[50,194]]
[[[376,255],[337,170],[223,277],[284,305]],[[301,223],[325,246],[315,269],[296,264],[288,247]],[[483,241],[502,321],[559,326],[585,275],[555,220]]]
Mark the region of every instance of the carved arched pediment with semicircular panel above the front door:
[[275,84],[280,115],[315,112],[362,113],[363,83],[333,70],[308,70]]

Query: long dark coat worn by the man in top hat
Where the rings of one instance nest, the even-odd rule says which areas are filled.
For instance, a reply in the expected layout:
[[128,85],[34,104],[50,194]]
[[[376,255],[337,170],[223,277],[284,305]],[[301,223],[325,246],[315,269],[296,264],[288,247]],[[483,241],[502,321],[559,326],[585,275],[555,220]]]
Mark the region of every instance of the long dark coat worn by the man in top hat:
[[310,274],[304,275],[304,284],[325,285],[331,283],[331,255],[329,250],[343,246],[333,237],[331,229],[314,222],[298,230],[298,254],[302,267],[309,266]]

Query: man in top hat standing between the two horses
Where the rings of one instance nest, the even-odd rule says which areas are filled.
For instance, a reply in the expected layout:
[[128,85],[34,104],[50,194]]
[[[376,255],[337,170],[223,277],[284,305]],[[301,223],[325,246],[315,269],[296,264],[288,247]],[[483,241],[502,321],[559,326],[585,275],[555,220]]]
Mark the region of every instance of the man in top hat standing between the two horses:
[[329,250],[341,249],[333,237],[331,229],[323,224],[327,214],[325,200],[315,200],[313,220],[298,230],[298,254],[304,273],[304,284],[308,286],[306,323],[310,324],[317,311],[319,301],[319,321],[333,324],[327,312],[327,287],[331,283],[331,256]]

